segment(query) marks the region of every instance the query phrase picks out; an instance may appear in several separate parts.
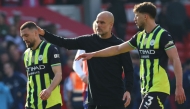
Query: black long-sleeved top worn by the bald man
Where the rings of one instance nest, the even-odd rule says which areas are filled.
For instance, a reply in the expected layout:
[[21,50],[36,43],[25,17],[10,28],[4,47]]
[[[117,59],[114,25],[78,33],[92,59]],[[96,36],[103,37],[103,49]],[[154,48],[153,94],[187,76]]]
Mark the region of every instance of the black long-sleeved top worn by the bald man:
[[[97,34],[83,35],[76,38],[63,38],[45,32],[44,38],[69,50],[81,49],[86,53],[101,50],[123,41],[112,35],[101,39]],[[123,94],[131,92],[133,86],[133,65],[129,53],[104,58],[92,58],[87,61],[89,71],[88,101],[93,105],[123,106]],[[126,82],[123,82],[124,70]],[[124,87],[124,84],[125,87]]]

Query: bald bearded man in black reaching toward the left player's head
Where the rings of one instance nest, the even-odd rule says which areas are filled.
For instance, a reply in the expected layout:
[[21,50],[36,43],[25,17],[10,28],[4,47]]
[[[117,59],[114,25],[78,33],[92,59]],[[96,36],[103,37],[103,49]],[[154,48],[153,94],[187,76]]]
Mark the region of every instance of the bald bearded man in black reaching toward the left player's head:
[[[69,50],[85,50],[86,53],[123,43],[112,34],[114,16],[108,11],[100,12],[95,20],[95,34],[76,38],[63,38],[38,28],[47,41]],[[133,86],[133,66],[129,53],[109,58],[93,58],[87,61],[88,109],[125,109],[130,104]],[[126,81],[122,79],[125,73]]]

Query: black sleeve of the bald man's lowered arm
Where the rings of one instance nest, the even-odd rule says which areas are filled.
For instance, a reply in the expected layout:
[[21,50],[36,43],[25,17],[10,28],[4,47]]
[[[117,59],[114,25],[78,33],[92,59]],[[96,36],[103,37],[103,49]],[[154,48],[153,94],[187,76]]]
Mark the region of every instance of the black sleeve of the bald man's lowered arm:
[[133,88],[134,70],[129,52],[121,54],[121,62],[125,74],[124,78],[125,89],[126,91],[129,91],[131,93]]

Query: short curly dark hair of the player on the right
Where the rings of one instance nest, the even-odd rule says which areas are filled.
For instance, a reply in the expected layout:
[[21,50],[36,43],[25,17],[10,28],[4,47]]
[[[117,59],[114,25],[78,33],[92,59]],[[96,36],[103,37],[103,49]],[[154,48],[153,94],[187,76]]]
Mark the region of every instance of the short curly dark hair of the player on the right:
[[147,13],[152,18],[156,18],[156,6],[151,2],[143,2],[136,4],[133,8],[133,12]]

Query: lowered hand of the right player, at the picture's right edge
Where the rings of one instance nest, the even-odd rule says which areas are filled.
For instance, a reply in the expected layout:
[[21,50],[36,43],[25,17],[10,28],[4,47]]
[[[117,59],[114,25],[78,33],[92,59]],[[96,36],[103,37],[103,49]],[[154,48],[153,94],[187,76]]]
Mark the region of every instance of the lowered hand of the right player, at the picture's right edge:
[[175,90],[175,101],[178,102],[178,104],[182,104],[186,101],[185,92],[182,86],[177,86]]

